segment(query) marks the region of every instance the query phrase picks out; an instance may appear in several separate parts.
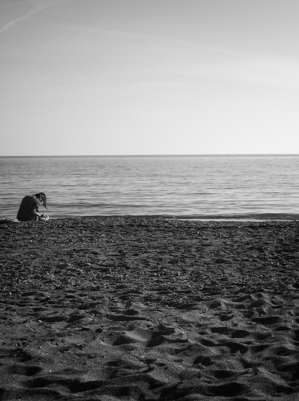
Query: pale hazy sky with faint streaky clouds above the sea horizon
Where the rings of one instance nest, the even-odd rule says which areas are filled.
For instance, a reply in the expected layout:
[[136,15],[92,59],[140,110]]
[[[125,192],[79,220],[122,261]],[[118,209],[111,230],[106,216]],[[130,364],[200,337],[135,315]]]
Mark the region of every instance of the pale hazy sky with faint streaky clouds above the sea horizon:
[[298,0],[1,0],[0,155],[299,153]]

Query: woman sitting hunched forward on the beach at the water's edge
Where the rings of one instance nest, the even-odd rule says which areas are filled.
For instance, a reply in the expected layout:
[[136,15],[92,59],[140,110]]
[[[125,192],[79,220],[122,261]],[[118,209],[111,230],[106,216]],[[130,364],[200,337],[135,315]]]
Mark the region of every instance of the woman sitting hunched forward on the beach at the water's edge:
[[38,221],[38,220],[49,220],[48,215],[40,215],[38,213],[38,207],[40,203],[44,205],[44,207],[47,209],[47,197],[46,194],[43,192],[40,192],[38,194],[35,194],[33,196],[25,196],[23,198],[20,209],[18,211],[17,219],[19,221]]

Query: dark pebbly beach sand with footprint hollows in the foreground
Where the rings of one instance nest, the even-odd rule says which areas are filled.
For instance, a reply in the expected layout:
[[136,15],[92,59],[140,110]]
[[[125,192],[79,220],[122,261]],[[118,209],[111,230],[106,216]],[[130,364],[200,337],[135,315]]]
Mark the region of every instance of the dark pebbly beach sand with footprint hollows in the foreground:
[[298,400],[299,223],[0,225],[0,399]]

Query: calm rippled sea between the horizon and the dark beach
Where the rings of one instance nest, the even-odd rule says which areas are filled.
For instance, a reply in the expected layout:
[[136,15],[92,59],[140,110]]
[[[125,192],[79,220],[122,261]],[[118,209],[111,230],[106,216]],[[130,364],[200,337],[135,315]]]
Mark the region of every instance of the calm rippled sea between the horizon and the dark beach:
[[299,155],[0,157],[0,218],[36,192],[51,218],[299,219]]

